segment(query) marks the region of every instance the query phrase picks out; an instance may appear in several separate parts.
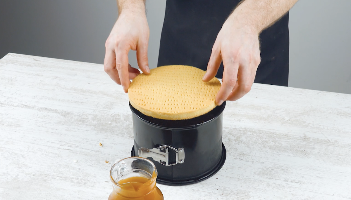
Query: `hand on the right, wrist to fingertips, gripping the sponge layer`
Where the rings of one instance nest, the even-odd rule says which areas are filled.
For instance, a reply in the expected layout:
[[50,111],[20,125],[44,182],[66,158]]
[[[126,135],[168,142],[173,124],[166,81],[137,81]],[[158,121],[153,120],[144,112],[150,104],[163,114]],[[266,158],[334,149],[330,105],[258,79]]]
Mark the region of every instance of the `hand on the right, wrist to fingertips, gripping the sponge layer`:
[[261,62],[259,32],[231,15],[223,24],[213,44],[210,61],[203,81],[216,76],[223,60],[222,85],[216,104],[236,101],[251,90],[258,65]]

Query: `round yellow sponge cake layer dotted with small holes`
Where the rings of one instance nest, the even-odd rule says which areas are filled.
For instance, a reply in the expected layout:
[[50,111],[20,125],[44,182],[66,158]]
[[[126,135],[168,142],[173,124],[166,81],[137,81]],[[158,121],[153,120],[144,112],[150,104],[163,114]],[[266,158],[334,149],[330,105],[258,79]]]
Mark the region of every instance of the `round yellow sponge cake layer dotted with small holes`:
[[167,65],[140,74],[128,89],[131,105],[144,115],[167,120],[191,119],[216,107],[221,83],[203,82],[205,71],[186,65]]

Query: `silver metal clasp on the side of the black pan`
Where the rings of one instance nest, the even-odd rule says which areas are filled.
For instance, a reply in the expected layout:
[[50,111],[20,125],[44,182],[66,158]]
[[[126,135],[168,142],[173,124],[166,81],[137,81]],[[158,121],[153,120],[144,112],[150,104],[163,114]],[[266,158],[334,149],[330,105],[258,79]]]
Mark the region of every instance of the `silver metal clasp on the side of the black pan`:
[[[176,152],[176,163],[171,163],[171,164],[169,163],[169,153],[168,153],[169,149]],[[162,145],[153,149],[147,149],[145,147],[141,147],[138,150],[138,154],[139,154],[139,157],[152,158],[155,161],[158,161],[159,163],[165,166],[177,165],[178,163],[183,164],[185,159],[184,148],[176,149],[169,145]]]

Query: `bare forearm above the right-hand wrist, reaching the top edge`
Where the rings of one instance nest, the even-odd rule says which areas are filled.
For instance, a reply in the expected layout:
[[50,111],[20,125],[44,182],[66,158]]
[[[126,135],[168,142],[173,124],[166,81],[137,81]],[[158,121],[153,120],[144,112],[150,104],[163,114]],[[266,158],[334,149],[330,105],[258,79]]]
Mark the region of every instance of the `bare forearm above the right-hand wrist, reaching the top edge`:
[[258,34],[287,13],[298,0],[244,0],[228,19]]

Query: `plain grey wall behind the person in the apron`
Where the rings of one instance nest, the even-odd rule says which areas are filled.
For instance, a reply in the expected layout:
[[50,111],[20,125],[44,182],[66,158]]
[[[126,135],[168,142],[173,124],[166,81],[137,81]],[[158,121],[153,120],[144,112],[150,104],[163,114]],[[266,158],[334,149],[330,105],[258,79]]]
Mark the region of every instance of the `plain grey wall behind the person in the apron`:
[[[148,0],[149,65],[156,67],[165,0]],[[300,0],[290,12],[289,87],[351,94],[351,1]],[[1,0],[0,58],[7,53],[103,63],[114,0]],[[137,67],[135,52],[130,64]]]

